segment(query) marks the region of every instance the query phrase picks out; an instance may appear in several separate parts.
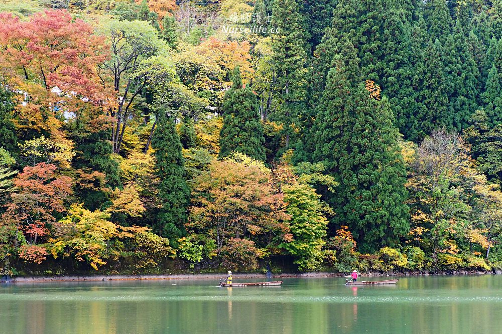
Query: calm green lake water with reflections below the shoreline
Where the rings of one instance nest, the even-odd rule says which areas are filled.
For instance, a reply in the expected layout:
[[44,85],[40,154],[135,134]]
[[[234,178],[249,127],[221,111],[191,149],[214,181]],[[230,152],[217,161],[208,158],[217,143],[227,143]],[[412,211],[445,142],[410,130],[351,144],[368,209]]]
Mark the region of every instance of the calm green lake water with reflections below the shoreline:
[[245,288],[220,288],[209,280],[2,284],[0,333],[502,332],[500,275],[400,278],[396,286],[344,283],[290,278],[279,287]]

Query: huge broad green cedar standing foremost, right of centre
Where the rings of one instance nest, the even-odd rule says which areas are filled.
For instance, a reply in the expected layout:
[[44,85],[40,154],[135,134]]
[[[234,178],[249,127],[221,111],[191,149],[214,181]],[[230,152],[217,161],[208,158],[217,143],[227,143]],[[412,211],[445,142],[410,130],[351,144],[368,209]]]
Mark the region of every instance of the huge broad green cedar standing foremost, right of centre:
[[340,184],[330,200],[335,225],[348,225],[360,250],[374,251],[409,229],[406,170],[387,98],[374,100],[351,79],[357,55],[347,39],[343,45],[319,104],[313,155]]

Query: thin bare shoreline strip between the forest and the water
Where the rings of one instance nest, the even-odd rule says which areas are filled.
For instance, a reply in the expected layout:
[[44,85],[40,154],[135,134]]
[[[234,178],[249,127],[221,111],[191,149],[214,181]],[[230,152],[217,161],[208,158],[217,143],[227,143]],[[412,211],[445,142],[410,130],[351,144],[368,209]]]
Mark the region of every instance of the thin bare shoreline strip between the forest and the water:
[[[457,275],[493,275],[500,272],[486,270],[457,270],[438,272],[388,272],[388,273],[361,273],[360,277],[407,277],[407,276],[457,276]],[[307,272],[307,273],[282,273],[282,274],[258,274],[258,273],[234,273],[234,278],[288,278],[288,277],[345,277],[346,274],[338,272]],[[0,283],[44,283],[44,282],[97,282],[97,281],[127,281],[127,280],[202,280],[224,278],[225,273],[208,274],[163,274],[163,275],[64,275],[64,276],[22,276],[0,277]]]

